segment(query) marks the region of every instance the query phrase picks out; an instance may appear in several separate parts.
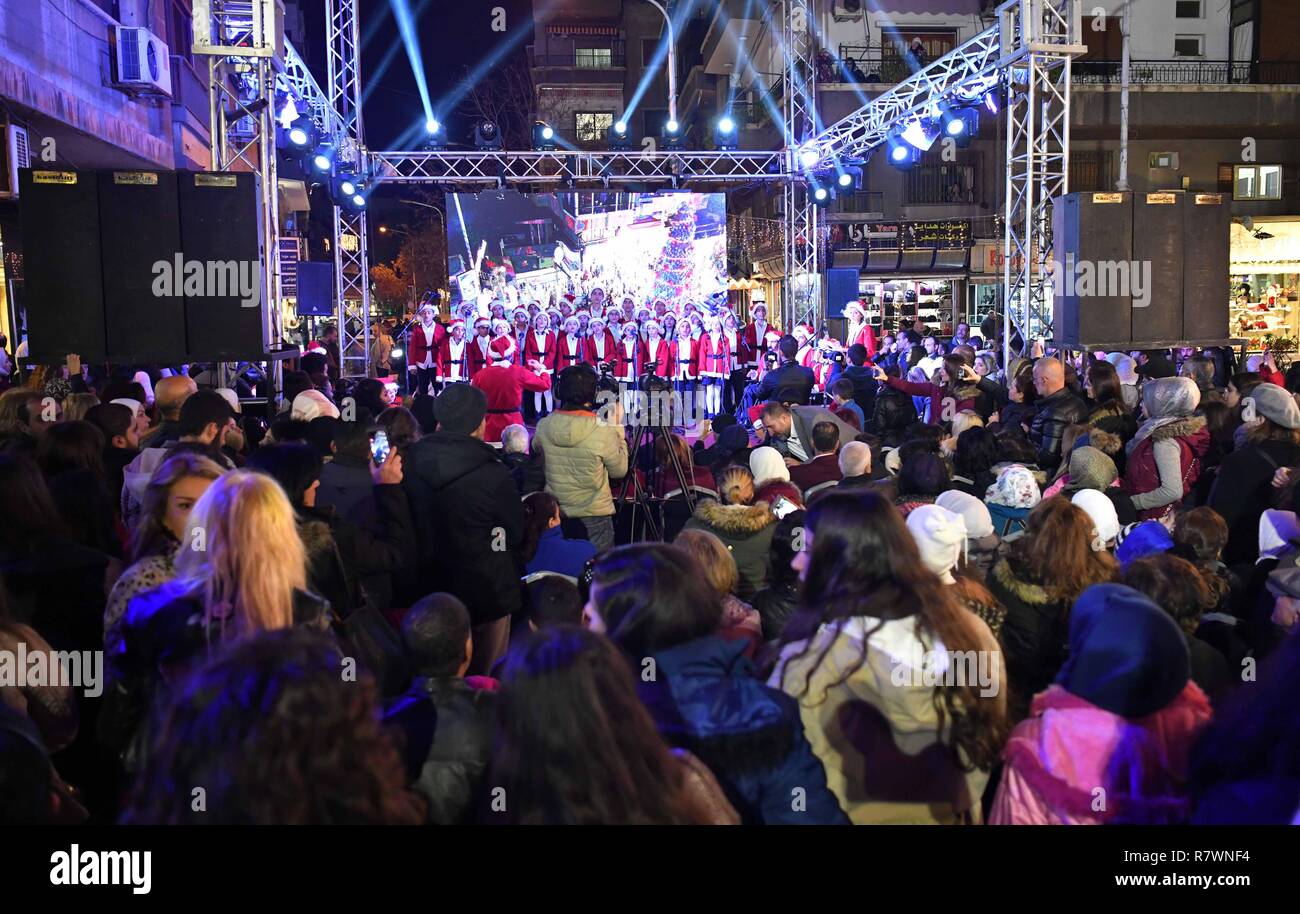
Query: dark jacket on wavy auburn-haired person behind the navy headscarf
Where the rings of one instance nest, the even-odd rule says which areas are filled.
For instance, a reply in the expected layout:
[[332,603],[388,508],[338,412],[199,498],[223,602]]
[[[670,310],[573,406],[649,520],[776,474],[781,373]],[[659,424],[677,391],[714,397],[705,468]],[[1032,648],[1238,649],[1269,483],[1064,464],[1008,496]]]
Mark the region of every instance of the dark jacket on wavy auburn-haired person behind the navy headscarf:
[[987,584],[989,593],[1006,607],[1001,642],[1010,680],[1008,712],[1019,720],[1028,714],[1034,696],[1052,685],[1065,663],[1070,607],[1049,597],[1041,585],[1019,577],[1008,559],[993,566]]

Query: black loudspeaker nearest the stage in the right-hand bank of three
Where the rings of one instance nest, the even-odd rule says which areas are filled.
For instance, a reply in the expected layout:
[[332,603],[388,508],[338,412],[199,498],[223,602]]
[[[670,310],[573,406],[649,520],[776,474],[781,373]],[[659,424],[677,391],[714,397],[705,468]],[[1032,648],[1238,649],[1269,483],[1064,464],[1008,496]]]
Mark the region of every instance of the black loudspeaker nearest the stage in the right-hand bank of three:
[[1115,289],[1108,265],[1126,264],[1127,270],[1134,259],[1132,213],[1132,194],[1066,194],[1052,207],[1058,345],[1128,342],[1132,302],[1114,294],[1128,290]]

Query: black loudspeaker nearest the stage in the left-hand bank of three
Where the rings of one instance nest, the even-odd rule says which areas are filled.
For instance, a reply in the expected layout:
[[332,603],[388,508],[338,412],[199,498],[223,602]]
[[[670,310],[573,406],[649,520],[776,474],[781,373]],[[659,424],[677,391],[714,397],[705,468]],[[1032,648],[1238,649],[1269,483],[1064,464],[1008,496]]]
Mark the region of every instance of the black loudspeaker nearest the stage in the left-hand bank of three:
[[257,176],[177,172],[177,198],[187,269],[203,270],[202,282],[187,282],[185,289],[188,356],[204,361],[265,358]]

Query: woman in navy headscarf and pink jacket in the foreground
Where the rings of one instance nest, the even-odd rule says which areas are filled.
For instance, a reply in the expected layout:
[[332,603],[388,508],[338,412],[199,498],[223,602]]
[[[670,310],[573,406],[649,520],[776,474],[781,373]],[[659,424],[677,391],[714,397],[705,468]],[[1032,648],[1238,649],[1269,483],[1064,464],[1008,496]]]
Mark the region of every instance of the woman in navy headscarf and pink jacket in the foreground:
[[1210,705],[1187,642],[1150,599],[1098,584],[1070,615],[1070,657],[1006,744],[991,824],[1178,823]]

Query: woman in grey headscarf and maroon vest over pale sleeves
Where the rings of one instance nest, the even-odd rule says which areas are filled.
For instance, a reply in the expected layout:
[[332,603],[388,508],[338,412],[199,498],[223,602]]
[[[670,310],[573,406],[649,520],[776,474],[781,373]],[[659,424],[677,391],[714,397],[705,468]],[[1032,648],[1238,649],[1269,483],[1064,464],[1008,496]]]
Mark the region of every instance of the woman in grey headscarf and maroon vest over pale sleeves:
[[1191,378],[1148,381],[1141,402],[1147,421],[1126,449],[1124,491],[1141,520],[1154,520],[1171,514],[1196,485],[1210,433],[1205,419],[1193,415],[1201,391]]

